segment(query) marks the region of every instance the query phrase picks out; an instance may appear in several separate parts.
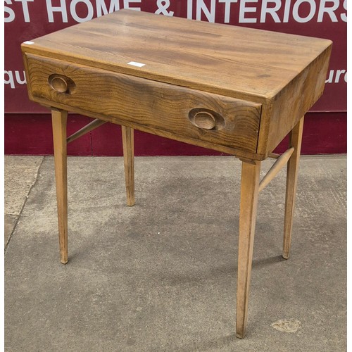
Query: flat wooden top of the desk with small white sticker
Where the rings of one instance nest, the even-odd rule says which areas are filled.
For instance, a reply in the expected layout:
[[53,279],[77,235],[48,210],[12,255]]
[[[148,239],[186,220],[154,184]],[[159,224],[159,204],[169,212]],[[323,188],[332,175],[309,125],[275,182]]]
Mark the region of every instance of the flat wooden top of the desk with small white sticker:
[[[32,39],[27,53],[270,103],[332,42],[122,10]],[[144,63],[142,67],[131,61]]]

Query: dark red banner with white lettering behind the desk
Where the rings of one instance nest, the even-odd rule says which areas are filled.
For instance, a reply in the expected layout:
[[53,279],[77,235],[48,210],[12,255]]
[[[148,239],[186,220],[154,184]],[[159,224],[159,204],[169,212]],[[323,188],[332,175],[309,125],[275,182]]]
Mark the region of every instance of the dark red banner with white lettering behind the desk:
[[47,112],[27,98],[20,43],[120,8],[331,39],[325,93],[311,111],[346,111],[346,0],[4,1],[6,113]]

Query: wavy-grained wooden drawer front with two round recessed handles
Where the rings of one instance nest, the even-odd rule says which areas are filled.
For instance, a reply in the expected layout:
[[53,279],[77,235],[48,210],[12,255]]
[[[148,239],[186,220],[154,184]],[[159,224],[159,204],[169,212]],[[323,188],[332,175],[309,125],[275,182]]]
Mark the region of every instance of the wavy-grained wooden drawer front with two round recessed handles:
[[32,54],[26,61],[34,101],[256,152],[258,103]]

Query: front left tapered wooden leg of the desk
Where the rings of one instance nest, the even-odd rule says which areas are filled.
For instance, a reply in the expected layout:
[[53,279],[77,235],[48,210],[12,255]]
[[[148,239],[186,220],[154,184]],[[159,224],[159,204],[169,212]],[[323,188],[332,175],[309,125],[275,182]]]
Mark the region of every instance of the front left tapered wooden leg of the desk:
[[60,261],[68,262],[68,226],[67,226],[67,151],[66,122],[67,111],[51,109],[54,137],[54,161],[56,179],[56,201],[58,206],[58,239]]

